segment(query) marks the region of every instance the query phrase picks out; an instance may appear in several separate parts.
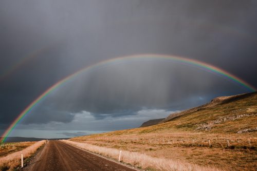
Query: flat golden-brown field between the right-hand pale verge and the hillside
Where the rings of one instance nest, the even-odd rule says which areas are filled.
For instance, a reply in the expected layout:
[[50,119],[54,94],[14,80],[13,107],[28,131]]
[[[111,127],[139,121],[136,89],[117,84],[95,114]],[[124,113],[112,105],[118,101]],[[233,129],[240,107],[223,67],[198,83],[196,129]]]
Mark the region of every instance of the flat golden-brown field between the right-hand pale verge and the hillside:
[[[108,133],[107,133],[108,134]],[[200,134],[199,132],[149,133],[117,136],[85,136],[72,141],[134,151],[156,158],[210,165],[222,170],[255,170],[257,139],[246,135]],[[208,139],[211,141],[209,146]],[[194,140],[194,141],[193,141]],[[229,140],[229,146],[227,144]]]

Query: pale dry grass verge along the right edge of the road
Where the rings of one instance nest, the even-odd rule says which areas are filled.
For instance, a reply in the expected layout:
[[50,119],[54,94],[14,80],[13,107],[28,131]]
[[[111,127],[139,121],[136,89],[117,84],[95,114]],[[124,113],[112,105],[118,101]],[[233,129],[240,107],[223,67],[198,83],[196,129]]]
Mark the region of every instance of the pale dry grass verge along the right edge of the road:
[[[77,146],[82,149],[86,149],[93,153],[97,153],[112,159],[117,160],[120,150],[115,148],[106,148],[96,145],[91,145],[87,143],[78,143],[69,140],[62,140],[65,143]],[[218,170],[217,168],[203,167],[196,164],[190,164],[186,162],[164,159],[164,158],[155,158],[145,154],[131,152],[131,151],[122,151],[121,161],[124,163],[131,164],[135,167],[147,169],[147,170]]]

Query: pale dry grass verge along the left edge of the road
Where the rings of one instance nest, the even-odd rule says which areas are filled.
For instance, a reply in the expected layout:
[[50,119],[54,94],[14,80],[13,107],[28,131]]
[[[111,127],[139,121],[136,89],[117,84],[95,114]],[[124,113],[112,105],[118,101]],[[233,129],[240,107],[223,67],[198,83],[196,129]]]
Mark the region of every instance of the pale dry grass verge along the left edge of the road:
[[45,143],[45,140],[38,141],[33,145],[15,153],[12,153],[8,156],[0,158],[0,169],[1,170],[12,170],[21,163],[21,155],[23,154],[24,159],[28,158],[33,154],[36,149],[42,146]]

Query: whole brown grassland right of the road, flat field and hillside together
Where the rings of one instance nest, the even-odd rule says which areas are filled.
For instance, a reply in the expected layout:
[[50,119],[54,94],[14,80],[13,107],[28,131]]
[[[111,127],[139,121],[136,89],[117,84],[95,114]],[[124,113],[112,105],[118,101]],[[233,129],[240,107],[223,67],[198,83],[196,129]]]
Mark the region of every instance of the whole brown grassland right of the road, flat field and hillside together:
[[256,170],[256,125],[257,93],[254,92],[154,126],[71,140],[221,170]]

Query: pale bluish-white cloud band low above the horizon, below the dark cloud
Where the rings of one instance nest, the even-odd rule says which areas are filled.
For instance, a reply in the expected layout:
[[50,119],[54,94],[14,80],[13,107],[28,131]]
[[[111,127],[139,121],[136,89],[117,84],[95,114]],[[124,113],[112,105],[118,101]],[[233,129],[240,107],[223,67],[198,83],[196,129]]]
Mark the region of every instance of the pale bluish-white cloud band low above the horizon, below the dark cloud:
[[[151,119],[164,118],[170,113],[177,112],[164,109],[141,109],[135,112],[135,115],[123,115],[119,117],[105,116],[104,119],[96,119],[93,113],[81,111],[74,113],[75,117],[69,123],[54,123],[46,124],[20,124],[18,129],[43,129],[49,132],[87,132],[88,134],[96,134],[104,131],[112,131],[117,129],[126,129],[139,127],[143,122]],[[76,127],[74,126],[76,125]],[[68,130],[68,131],[63,131]],[[80,130],[80,131],[78,131]],[[86,131],[85,131],[86,130]],[[15,132],[14,132],[15,134]],[[50,134],[50,133],[49,133]]]

